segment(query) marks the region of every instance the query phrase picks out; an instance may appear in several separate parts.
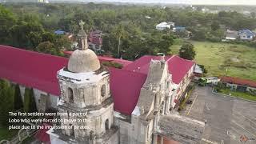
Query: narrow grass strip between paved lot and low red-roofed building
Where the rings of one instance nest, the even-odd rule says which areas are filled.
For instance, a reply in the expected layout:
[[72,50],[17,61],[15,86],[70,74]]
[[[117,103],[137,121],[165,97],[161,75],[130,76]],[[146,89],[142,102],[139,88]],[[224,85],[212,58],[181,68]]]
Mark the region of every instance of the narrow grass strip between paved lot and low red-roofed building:
[[226,94],[226,95],[231,94],[230,96],[233,96],[233,97],[244,98],[244,99],[248,99],[248,100],[251,100],[251,101],[256,101],[256,96],[254,96],[252,94],[248,94],[248,93],[242,93],[242,92],[239,92],[239,91],[231,91],[231,90],[228,90],[228,89],[221,89],[220,91],[218,91],[218,93]]

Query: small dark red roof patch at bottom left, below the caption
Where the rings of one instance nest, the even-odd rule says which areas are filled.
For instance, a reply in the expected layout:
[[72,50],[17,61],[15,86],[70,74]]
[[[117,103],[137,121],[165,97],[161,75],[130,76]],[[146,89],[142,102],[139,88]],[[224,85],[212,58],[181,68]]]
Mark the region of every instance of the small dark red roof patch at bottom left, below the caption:
[[45,144],[50,144],[50,135],[46,133],[50,130],[50,125],[43,123],[42,126],[43,129],[39,129],[37,133],[34,134],[34,137]]

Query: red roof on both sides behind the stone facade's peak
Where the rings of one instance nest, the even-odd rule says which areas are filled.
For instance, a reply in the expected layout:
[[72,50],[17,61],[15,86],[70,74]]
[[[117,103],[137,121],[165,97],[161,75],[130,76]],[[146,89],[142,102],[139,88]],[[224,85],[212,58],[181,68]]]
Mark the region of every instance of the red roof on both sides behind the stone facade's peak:
[[[136,71],[138,73],[147,74],[150,66],[151,59],[159,60],[160,56],[143,56],[130,65],[124,67],[124,70]],[[174,83],[179,84],[182,78],[187,72],[194,66],[195,62],[180,58],[176,55],[166,56],[166,62],[168,62],[169,73],[172,74],[172,80]]]

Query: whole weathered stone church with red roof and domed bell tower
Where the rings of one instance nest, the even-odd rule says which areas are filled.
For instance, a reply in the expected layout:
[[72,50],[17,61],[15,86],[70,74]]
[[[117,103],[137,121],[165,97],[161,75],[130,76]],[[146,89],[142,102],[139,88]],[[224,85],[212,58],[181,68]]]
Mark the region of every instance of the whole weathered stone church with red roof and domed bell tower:
[[[16,51],[0,47],[3,53],[10,50]],[[25,51],[19,52],[25,54]],[[28,52],[28,55],[33,54]],[[21,54],[14,57],[18,55]],[[37,62],[36,58],[46,57],[46,54],[34,57]],[[94,51],[88,49],[87,35],[82,28],[78,33],[78,50],[74,50],[69,59],[54,59],[58,64],[49,62],[48,71],[38,68],[38,72],[32,70],[33,74],[28,75],[29,70],[21,71],[19,76],[8,75],[8,62],[0,61],[0,78],[33,87],[39,111],[52,107],[66,114],[61,115],[61,122],[56,124],[66,128],[48,130],[48,142],[163,144],[165,139],[201,142],[204,122],[173,112],[193,76],[194,62],[177,56],[144,56],[121,70],[107,68],[101,65]],[[36,75],[42,71],[43,74]],[[48,77],[49,71],[52,74]],[[45,83],[34,81],[40,80],[39,77],[40,82]],[[76,113],[83,115],[70,115]],[[76,119],[76,122],[65,121],[69,119]]]

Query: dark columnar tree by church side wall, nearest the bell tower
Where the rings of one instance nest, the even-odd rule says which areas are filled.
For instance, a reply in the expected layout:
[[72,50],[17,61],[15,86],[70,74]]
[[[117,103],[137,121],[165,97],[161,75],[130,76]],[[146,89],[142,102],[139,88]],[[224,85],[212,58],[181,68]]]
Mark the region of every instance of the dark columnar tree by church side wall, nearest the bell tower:
[[37,106],[34,99],[33,89],[26,88],[24,94],[24,111],[26,113],[36,112]]

